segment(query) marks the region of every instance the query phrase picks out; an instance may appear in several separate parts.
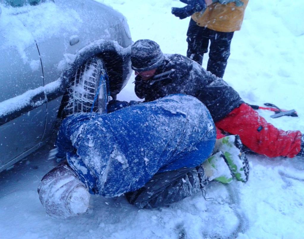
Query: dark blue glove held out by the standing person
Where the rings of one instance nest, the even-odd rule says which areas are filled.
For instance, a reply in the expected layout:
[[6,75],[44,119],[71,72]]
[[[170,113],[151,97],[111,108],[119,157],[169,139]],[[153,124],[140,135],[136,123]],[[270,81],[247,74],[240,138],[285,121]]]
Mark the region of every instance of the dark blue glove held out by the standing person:
[[184,19],[191,16],[195,12],[205,11],[206,2],[205,0],[180,0],[181,2],[187,4],[183,8],[172,8],[171,12],[180,19]]

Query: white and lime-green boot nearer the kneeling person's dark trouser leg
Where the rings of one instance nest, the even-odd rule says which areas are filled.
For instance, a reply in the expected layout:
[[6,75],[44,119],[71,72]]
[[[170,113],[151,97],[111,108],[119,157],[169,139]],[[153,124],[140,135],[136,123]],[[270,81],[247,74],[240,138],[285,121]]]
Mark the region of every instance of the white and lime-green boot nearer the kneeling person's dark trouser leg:
[[225,162],[223,152],[219,151],[213,154],[205,162],[202,163],[205,175],[208,181],[216,180],[221,183],[232,182],[232,175],[228,165]]

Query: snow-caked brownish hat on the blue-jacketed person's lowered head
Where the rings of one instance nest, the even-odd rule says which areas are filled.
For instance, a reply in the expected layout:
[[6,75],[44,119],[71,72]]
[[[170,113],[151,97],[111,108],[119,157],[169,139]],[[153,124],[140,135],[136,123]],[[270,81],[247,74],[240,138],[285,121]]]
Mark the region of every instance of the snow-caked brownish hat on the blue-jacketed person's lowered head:
[[47,214],[55,218],[85,213],[89,206],[90,194],[67,161],[60,163],[42,178],[38,194]]

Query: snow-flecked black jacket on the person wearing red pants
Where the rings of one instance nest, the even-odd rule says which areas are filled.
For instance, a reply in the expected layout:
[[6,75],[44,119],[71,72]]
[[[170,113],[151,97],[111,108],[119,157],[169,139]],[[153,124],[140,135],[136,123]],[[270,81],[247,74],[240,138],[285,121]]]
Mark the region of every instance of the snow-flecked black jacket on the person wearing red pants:
[[222,78],[180,54],[166,55],[154,78],[148,81],[137,75],[135,93],[148,102],[170,94],[192,95],[207,106],[214,122],[243,103],[239,94]]

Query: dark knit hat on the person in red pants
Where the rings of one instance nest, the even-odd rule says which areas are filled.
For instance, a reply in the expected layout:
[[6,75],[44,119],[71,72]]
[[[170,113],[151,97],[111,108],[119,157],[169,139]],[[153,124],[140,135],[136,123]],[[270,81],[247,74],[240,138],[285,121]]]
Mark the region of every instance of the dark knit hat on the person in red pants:
[[159,67],[164,54],[159,45],[152,40],[136,41],[131,47],[131,62],[134,71],[149,71]]

